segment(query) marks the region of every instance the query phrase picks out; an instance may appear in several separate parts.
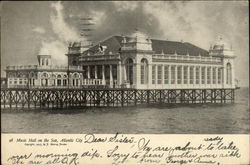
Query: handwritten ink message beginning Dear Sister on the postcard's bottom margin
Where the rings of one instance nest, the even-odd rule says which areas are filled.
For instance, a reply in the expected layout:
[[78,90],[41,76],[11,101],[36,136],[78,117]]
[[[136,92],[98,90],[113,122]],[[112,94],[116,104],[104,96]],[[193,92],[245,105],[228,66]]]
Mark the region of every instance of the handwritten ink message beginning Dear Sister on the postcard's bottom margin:
[[[37,142],[37,141],[34,141]],[[100,136],[86,134],[82,138],[64,139],[67,148],[53,145],[41,146],[41,150],[11,154],[7,164],[60,164],[80,165],[99,161],[103,164],[215,164],[221,159],[237,160],[242,157],[241,151],[234,141],[220,136],[210,136],[193,142],[192,139],[180,143],[159,143],[143,136],[114,134]],[[38,142],[37,142],[38,143]],[[77,149],[72,148],[77,144]],[[101,147],[100,147],[101,146]],[[27,147],[24,145],[24,147]],[[30,147],[30,146],[29,146]],[[58,147],[55,150],[55,147]],[[54,152],[52,152],[54,151]]]

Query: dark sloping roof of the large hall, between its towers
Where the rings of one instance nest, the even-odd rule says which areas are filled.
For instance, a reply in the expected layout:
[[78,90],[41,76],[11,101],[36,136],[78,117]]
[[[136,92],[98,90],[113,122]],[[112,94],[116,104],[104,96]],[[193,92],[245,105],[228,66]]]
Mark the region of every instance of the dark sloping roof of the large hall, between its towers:
[[[129,37],[125,37],[127,40],[130,39]],[[112,52],[118,53],[121,48],[123,37],[122,36],[112,36],[104,41],[100,42],[100,45],[107,46],[105,50],[105,54]],[[156,54],[174,54],[175,52],[177,55],[187,55],[190,56],[208,56],[208,51],[195,46],[188,42],[176,42],[176,41],[165,41],[165,40],[157,40],[151,39],[152,41],[152,49]],[[95,53],[98,52],[99,44],[89,48],[88,51]]]

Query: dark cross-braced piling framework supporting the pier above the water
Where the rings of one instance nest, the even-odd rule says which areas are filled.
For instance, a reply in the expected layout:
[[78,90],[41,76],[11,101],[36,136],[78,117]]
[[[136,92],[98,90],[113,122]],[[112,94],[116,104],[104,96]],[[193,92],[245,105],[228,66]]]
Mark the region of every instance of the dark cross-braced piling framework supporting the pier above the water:
[[232,103],[235,89],[1,89],[2,109]]

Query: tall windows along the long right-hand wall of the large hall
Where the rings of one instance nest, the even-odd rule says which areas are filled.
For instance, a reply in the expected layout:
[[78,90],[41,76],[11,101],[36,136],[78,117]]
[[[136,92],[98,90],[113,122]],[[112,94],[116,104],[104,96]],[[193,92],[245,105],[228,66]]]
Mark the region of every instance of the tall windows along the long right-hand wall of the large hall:
[[[156,73],[157,72],[157,73]],[[163,72],[163,73],[162,73]],[[207,72],[207,73],[206,73]],[[227,69],[227,84],[232,83],[231,68]],[[141,72],[142,73],[142,72]],[[144,78],[141,74],[141,80]],[[144,81],[141,81],[144,84]],[[188,66],[152,66],[152,84],[221,84],[222,68]]]

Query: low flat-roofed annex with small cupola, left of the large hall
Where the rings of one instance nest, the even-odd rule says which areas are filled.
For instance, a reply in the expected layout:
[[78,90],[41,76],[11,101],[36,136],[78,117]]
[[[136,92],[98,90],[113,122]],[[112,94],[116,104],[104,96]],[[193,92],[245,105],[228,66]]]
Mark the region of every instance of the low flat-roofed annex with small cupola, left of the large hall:
[[80,88],[81,66],[53,66],[50,55],[38,55],[38,65],[7,66],[7,88]]

